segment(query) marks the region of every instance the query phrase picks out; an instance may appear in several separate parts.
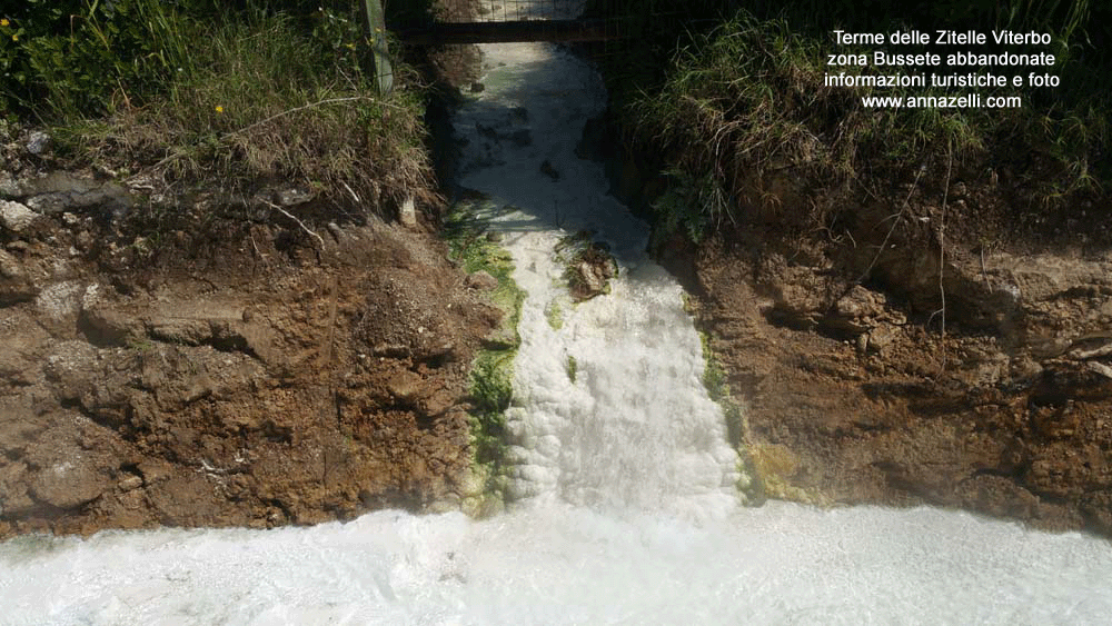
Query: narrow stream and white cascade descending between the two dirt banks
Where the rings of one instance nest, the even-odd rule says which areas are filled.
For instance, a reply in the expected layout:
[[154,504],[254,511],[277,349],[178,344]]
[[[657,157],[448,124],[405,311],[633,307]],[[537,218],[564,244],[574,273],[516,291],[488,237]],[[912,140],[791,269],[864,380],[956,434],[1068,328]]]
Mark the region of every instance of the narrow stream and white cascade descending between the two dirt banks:
[[[488,48],[486,89],[455,129],[460,182],[490,197],[492,228],[528,294],[507,411],[510,496],[725,515],[738,458],[703,386],[681,288],[647,257],[647,225],[607,195],[599,163],[575,156],[585,121],[605,108],[602,78],[547,44]],[[579,305],[557,254],[576,233],[604,244],[618,267],[609,294]]]

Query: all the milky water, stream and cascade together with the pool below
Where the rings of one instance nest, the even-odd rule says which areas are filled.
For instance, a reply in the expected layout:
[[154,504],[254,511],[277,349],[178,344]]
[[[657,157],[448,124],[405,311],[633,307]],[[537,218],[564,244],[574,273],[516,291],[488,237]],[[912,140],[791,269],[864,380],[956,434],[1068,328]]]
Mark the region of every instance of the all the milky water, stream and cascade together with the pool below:
[[[528,292],[509,513],[22,537],[0,545],[0,625],[1108,623],[1101,539],[930,508],[739,506],[681,289],[573,155],[598,76],[548,44],[485,48],[486,90],[455,125],[460,181],[498,207]],[[554,247],[579,230],[620,270],[573,306]]]

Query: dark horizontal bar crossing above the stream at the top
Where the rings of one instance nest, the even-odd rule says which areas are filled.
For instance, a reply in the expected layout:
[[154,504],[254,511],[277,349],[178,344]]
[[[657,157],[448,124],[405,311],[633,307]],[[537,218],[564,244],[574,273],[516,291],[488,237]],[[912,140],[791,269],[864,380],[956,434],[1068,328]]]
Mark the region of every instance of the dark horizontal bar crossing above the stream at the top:
[[403,31],[406,43],[504,43],[512,41],[604,41],[622,36],[609,20],[515,20],[503,22],[437,23]]

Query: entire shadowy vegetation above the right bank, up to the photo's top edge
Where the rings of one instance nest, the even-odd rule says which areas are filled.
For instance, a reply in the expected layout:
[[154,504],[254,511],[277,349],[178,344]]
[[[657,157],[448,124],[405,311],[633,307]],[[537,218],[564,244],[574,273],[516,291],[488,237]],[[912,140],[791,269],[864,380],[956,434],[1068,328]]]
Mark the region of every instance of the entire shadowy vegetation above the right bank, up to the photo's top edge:
[[[1020,208],[1042,215],[1112,189],[1112,92],[1104,87],[1112,80],[1112,8],[1086,0],[877,0],[867,7],[790,0],[745,3],[745,11],[728,0],[626,4],[639,36],[599,58],[634,152],[653,155],[645,165],[669,181],[655,201],[658,237],[681,231],[697,242],[728,223],[738,207],[817,229],[828,225],[826,209],[812,203],[803,211],[808,215],[787,215],[777,203],[807,206],[807,197],[846,195],[857,201],[924,169],[942,178],[951,166],[966,180],[1009,172]],[[676,21],[685,26],[679,34]],[[826,53],[855,51],[835,44],[832,30],[933,28],[1050,32],[1046,51],[1058,58],[1050,71],[1061,87],[982,91],[1022,96],[1023,106],[1014,109],[885,109],[865,108],[861,98],[940,91],[824,85]],[[631,57],[638,63],[626,63]],[[1025,74],[1030,68],[1022,69]],[[785,198],[785,190],[798,197]]]

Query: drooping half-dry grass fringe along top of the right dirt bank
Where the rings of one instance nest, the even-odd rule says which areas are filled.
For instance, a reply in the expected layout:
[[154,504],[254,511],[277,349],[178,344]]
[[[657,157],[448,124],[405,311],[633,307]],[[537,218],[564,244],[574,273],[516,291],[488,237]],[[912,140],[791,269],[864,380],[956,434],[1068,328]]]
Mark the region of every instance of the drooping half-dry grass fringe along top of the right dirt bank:
[[1019,109],[867,109],[861,98],[868,95],[940,91],[827,87],[830,51],[828,33],[741,13],[678,50],[658,90],[626,100],[634,150],[658,155],[651,166],[669,180],[655,206],[662,235],[681,231],[698,242],[733,221],[737,207],[821,227],[823,210],[798,215],[780,206],[800,203],[785,189],[795,199],[861,195],[876,181],[937,170],[951,157],[962,171],[1015,171],[1017,186],[1048,211],[1110,188],[1112,166],[1102,155],[1112,147],[1112,98],[1084,87],[1093,80],[1086,71],[1106,78],[1108,68],[1064,61],[1054,71],[1073,86],[1053,90],[1053,100],[1022,91]]

